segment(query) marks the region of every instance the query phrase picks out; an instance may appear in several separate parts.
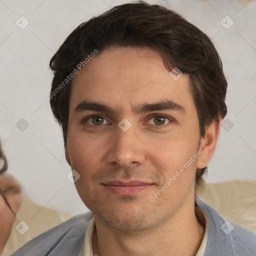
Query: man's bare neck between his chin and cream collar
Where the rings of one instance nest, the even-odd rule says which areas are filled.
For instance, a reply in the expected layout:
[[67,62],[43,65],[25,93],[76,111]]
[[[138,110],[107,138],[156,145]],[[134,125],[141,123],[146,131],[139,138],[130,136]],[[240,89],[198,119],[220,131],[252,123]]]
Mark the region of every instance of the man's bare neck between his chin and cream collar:
[[180,208],[175,216],[153,230],[139,232],[110,229],[94,216],[96,228],[92,236],[93,255],[194,256],[204,233],[204,227],[197,218],[204,217],[194,204],[191,206],[185,210]]

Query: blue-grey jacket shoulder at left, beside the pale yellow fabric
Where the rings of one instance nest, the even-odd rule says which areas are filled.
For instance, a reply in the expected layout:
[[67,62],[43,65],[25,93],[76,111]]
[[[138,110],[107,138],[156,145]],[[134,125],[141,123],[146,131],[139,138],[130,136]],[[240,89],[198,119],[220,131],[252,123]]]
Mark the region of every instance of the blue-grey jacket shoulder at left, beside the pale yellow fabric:
[[49,252],[52,255],[76,255],[82,246],[86,228],[92,218],[92,212],[75,215],[33,237],[11,256],[42,256],[48,255]]

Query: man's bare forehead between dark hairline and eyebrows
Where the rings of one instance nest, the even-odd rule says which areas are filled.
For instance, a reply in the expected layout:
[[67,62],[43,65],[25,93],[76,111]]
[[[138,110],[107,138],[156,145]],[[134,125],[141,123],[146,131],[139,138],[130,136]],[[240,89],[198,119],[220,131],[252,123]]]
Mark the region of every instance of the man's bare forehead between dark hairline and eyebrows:
[[99,52],[75,75],[69,109],[83,100],[124,110],[161,99],[193,104],[188,75],[174,80],[158,52],[148,47],[111,47]]

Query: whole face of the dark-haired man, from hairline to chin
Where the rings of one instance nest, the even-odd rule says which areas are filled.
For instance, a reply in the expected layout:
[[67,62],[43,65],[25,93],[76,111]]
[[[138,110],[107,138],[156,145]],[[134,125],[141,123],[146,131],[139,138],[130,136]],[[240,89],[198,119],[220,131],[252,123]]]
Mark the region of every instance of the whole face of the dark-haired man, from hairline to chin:
[[[171,104],[143,107],[163,101]],[[66,159],[81,199],[108,227],[144,230],[183,214],[194,203],[199,140],[188,76],[174,80],[152,49],[105,49],[73,78]]]

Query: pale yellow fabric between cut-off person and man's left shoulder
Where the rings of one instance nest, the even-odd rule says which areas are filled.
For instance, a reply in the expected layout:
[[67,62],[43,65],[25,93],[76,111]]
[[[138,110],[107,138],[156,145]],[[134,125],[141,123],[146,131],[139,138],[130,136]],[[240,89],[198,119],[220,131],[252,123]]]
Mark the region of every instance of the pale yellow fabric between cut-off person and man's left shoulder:
[[[9,256],[17,248],[35,237],[36,235],[60,224],[72,215],[57,209],[44,207],[33,202],[28,196],[24,196],[22,204],[16,214],[10,236],[5,244],[1,256]],[[27,227],[25,224],[20,226],[20,221],[24,221],[28,225],[28,229],[24,234],[18,230],[24,231]],[[16,229],[17,226],[17,229]],[[25,229],[24,229],[25,228]]]

